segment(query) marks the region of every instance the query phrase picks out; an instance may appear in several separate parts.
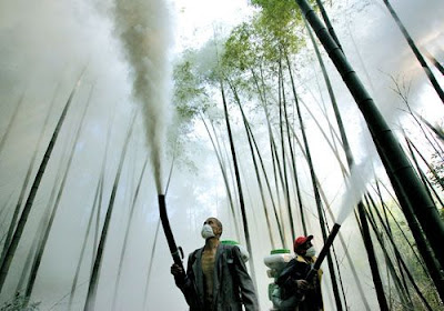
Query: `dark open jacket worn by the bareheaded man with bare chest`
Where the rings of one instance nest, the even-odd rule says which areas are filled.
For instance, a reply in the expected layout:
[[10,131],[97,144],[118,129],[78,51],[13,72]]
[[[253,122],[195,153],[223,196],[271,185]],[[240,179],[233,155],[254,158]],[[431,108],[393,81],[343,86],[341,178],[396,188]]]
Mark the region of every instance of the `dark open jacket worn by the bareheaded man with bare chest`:
[[[190,311],[210,311],[203,307],[202,252],[203,248],[189,255],[184,279],[175,278],[175,284],[183,292]],[[214,260],[211,311],[242,311],[242,304],[245,307],[245,311],[259,310],[253,282],[246,272],[239,248],[219,244]]]

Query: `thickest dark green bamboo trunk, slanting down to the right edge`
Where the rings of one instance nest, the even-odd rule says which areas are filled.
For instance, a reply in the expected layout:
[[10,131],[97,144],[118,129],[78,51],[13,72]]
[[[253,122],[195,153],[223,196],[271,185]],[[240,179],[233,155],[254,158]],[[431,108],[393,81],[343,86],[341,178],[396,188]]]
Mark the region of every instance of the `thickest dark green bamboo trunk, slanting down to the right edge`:
[[296,0],[296,2],[315,30],[317,38],[325,47],[361,109],[393,188],[400,201],[402,201],[404,213],[412,212],[412,217],[417,217],[436,258],[440,262],[444,262],[444,251],[442,248],[444,224],[440,219],[435,205],[425,192],[424,185],[413,170],[398,141],[390,130],[372,98],[361,83],[357,74],[350,66],[337,44],[330,37],[313,9],[305,0]]

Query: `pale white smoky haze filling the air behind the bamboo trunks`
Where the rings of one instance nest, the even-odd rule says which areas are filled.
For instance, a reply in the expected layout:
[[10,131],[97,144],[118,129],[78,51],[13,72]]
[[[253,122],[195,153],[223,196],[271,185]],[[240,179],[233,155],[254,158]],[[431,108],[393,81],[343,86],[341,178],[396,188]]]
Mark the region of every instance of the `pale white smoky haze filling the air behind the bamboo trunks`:
[[[130,2],[133,7],[128,8]],[[179,1],[170,3],[171,16],[167,17],[167,8],[162,2],[164,1],[119,0],[115,1],[115,7],[113,1],[108,0],[38,1],[36,3],[7,0],[0,2],[0,139],[7,133],[7,127],[14,109],[20,103],[20,98],[23,97],[17,118],[4,141],[4,148],[0,151],[0,237],[3,237],[8,230],[12,210],[37,148],[44,118],[50,113],[43,141],[38,147],[37,163],[41,161],[69,93],[85,68],[81,86],[68,111],[65,123],[37,194],[23,239],[19,244],[1,293],[0,304],[10,300],[16,290],[32,239],[50,200],[51,190],[60,180],[59,172],[65,169],[67,150],[72,144],[80,116],[92,91],[85,126],[81,130],[80,140],[75,147],[67,187],[62,192],[59,211],[42,258],[31,300],[41,301],[41,310],[65,310],[83,234],[94,200],[101,164],[107,152],[108,129],[111,127],[111,139],[107,152],[102,207],[108,204],[123,139],[130,126],[131,116],[133,111],[137,111],[135,132],[130,140],[129,153],[123,165],[110,233],[107,239],[97,310],[111,310],[110,297],[114,292],[117,267],[129,217],[128,211],[134,184],[142,170],[148,150],[161,151],[160,149],[164,148],[162,152],[167,154],[165,158],[153,160],[154,163],[162,162],[163,181],[160,182],[160,179],[154,178],[153,167],[158,168],[159,164],[148,167],[142,180],[117,297],[117,310],[143,310],[147,273],[158,224],[157,193],[160,188],[165,187],[172,154],[171,150],[167,150],[169,146],[171,149],[171,144],[164,141],[163,134],[159,136],[161,139],[155,142],[151,140],[155,139],[157,134],[154,130],[150,129],[154,122],[159,122],[163,127],[168,121],[167,116],[172,110],[172,108],[168,108],[171,104],[169,89],[172,86],[172,81],[168,80],[168,77],[171,74],[173,60],[163,51],[168,52],[173,49],[176,56],[180,56],[180,51],[184,47],[203,46],[203,40],[208,40],[212,36],[212,31],[209,34],[209,29],[213,23],[208,20],[208,17],[212,17],[210,13],[212,8],[216,10],[222,7],[224,9],[233,7],[232,13],[228,12],[225,17],[214,14],[214,26],[224,29],[229,29],[233,22],[238,22],[239,16],[246,17],[252,12],[245,3],[236,7],[235,1],[211,0],[204,1],[205,4],[201,3],[201,6],[199,1]],[[223,4],[225,2],[226,6]],[[430,122],[442,124],[444,120],[442,102],[426,81],[422,68],[382,1],[343,0],[333,2],[337,2],[336,7],[327,7],[327,10],[344,51],[390,124],[394,129],[398,129],[400,120],[407,119],[404,112],[405,107],[391,90],[394,84],[390,74],[400,77],[400,81],[402,79],[411,81],[410,99],[414,109]],[[367,3],[364,4],[364,2]],[[391,2],[416,42],[426,48],[436,59],[443,61],[443,1],[396,0]],[[161,4],[162,8],[158,8],[157,4]],[[210,10],[209,13],[199,12],[203,9]],[[134,29],[127,28],[127,22],[135,16],[140,19],[137,23],[141,27],[131,33],[130,30]],[[148,37],[144,36],[147,33]],[[143,38],[147,41],[141,42]],[[150,50],[152,48],[155,49]],[[310,104],[320,100],[321,96],[326,98],[327,93],[323,83],[320,86],[322,92],[319,92],[315,77],[321,77],[321,73],[317,63],[314,62],[314,51],[310,42],[301,54],[304,63],[297,72],[297,79],[304,81],[304,84],[299,84],[299,91],[304,101]],[[313,59],[313,62],[309,61],[310,58]],[[356,162],[374,161],[376,170],[381,170],[356,104],[333,66],[329,61],[326,63],[336,90],[340,109],[344,112],[344,123],[350,134],[352,150],[356,156]],[[444,86],[443,79],[440,82]],[[315,93],[316,98],[311,96],[307,88],[312,89],[311,92]],[[52,101],[54,106],[50,110]],[[162,104],[150,106],[154,101],[162,102]],[[152,112],[151,108],[160,108],[160,110]],[[305,126],[315,128],[311,121]],[[202,124],[196,123],[194,130],[189,133],[188,144],[181,146],[182,150],[174,164],[167,195],[173,233],[185,253],[203,245],[200,229],[209,215],[221,219],[224,224],[222,238],[238,239],[211,143]],[[240,127],[235,130],[238,134],[241,131]],[[320,181],[325,185],[333,211],[337,213],[339,205],[343,200],[344,183],[340,179],[339,169],[331,165],[334,160],[330,160],[330,158],[333,156],[330,154],[330,151],[325,151],[327,150],[326,146],[315,129],[311,140],[320,141],[313,143],[313,160],[320,168],[317,171]],[[246,158],[248,153],[246,147],[239,147],[239,157]],[[152,156],[152,153],[150,154]],[[163,156],[155,157],[161,159]],[[243,162],[243,167],[241,167],[244,181],[254,178],[253,169],[246,167],[248,163]],[[37,165],[34,165],[33,174]],[[301,174],[309,222],[314,224],[316,221],[315,205],[310,193],[307,170],[303,169]],[[266,297],[270,279],[266,278],[263,258],[270,252],[271,245],[263,212],[255,210],[255,207],[260,205],[256,185],[246,184],[245,182],[246,213],[253,248],[251,258],[254,260],[256,273],[254,279],[261,308],[268,310],[271,305]],[[342,233],[347,242],[349,251],[360,264],[360,275],[364,279],[363,284],[369,293],[367,299],[376,309],[370,270],[365,264],[364,247],[361,238],[352,238],[355,230],[354,221],[347,220],[343,224]],[[302,231],[297,233],[302,233]],[[321,249],[320,232],[314,231],[313,234],[315,235],[314,244]],[[275,235],[278,237],[278,232]],[[289,235],[287,242],[290,240]],[[241,238],[241,243],[245,243],[243,238]],[[89,265],[92,260],[92,244],[93,239],[90,239],[73,310],[83,308],[90,272],[87,264]],[[165,239],[160,230],[149,280],[147,310],[186,310],[185,301],[179,289],[174,287],[173,278],[170,274],[171,263]],[[350,309],[362,310],[362,302],[355,292],[350,271],[344,268],[343,273],[346,291],[350,293],[347,298]],[[325,277],[324,280],[329,280],[329,278]],[[326,310],[334,310],[330,293],[331,287],[327,281],[324,282],[324,290]]]

